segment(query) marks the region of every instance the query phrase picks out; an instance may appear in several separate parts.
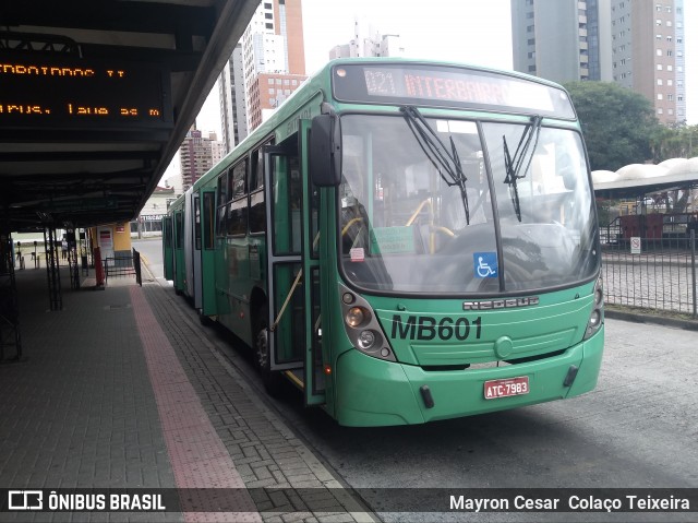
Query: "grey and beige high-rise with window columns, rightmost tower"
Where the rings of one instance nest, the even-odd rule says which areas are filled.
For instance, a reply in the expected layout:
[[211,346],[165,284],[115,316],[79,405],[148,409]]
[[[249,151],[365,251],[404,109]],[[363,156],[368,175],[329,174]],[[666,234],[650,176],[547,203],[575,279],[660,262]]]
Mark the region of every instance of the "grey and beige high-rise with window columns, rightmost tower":
[[686,119],[683,0],[612,0],[613,79],[654,104],[663,123]]

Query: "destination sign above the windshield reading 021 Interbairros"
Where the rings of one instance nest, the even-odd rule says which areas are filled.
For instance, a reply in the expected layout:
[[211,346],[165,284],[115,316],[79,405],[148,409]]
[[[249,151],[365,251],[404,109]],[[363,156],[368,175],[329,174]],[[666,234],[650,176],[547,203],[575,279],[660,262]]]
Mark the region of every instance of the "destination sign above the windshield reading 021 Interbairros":
[[422,64],[336,66],[335,97],[342,102],[409,104],[535,114],[574,119],[564,90],[508,74]]

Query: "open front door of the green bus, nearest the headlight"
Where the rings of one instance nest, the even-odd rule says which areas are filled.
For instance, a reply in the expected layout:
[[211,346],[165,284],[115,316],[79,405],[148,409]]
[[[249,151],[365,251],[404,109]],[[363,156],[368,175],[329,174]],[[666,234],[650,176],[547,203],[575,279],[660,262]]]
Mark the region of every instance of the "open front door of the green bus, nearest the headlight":
[[[267,205],[267,274],[272,370],[304,390],[308,405],[325,401],[320,325],[316,204],[308,182],[306,135],[264,150]],[[305,171],[305,176],[303,176]],[[314,216],[314,218],[313,218]]]

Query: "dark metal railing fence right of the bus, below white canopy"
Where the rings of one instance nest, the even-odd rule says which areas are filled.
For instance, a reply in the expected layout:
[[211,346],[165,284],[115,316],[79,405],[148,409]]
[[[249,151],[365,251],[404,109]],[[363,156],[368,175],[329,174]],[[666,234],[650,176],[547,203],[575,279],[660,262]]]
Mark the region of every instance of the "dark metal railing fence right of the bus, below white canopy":
[[690,314],[696,304],[696,237],[603,242],[606,304]]

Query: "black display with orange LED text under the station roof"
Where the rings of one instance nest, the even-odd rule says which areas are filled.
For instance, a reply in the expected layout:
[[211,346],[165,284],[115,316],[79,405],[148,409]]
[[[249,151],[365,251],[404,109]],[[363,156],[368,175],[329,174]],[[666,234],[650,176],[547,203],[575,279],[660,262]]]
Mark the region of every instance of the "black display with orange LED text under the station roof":
[[0,55],[0,126],[172,127],[169,72],[142,62]]

